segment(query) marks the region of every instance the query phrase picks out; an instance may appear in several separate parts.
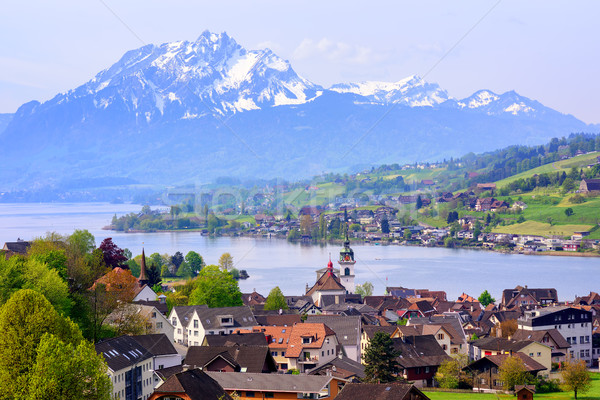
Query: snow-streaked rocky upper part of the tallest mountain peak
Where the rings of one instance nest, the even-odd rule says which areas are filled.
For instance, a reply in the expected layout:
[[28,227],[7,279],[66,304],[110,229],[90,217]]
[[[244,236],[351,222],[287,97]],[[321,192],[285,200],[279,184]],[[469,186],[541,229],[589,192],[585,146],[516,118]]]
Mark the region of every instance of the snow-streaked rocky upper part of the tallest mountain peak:
[[195,42],[147,45],[127,52],[86,84],[58,95],[60,104],[93,97],[96,108],[125,105],[149,121],[159,114],[193,118],[302,104],[323,93],[268,49],[246,50],[226,33]]

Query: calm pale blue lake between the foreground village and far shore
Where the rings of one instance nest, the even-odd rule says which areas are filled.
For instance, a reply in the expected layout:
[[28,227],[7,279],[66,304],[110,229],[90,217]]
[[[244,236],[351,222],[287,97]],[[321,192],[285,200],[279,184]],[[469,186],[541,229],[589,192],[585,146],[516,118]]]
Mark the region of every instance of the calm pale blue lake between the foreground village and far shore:
[[[87,229],[96,245],[106,237],[134,255],[142,247],[154,252],[184,255],[194,250],[206,263],[216,264],[229,252],[235,267],[248,271],[250,278],[240,281],[242,292],[256,289],[267,295],[279,286],[286,295],[304,293],[315,282],[315,270],[327,265],[329,255],[335,263],[338,245],[302,245],[282,239],[210,238],[197,232],[124,233],[102,230],[112,216],[138,212],[140,205],[108,203],[0,203],[0,245],[17,238],[30,240],[54,231],[70,234]],[[573,300],[600,290],[600,258],[551,257],[500,254],[487,251],[406,246],[352,245],[356,257],[356,283],[371,282],[374,294],[385,286],[444,290],[448,299],[463,291],[472,295],[487,289],[496,300],[502,290],[516,285],[554,287],[561,300]]]

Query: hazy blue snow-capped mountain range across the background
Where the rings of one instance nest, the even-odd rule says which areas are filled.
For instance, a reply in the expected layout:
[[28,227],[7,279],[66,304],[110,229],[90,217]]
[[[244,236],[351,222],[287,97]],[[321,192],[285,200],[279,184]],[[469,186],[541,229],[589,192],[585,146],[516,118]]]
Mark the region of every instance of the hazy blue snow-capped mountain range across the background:
[[591,129],[515,92],[454,99],[418,76],[324,88],[268,49],[206,31],[129,51],[67,93],[0,115],[0,157],[10,166],[0,190],[308,177]]

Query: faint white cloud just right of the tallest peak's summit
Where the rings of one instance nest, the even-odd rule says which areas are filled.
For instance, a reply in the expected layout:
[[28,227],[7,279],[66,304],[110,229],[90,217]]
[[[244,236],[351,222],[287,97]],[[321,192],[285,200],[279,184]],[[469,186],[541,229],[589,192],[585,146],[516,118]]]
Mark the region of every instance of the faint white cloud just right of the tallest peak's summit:
[[381,59],[369,47],[334,42],[327,38],[318,41],[304,39],[292,53],[292,59],[295,60],[310,58],[325,58],[332,62],[346,64],[369,64],[374,59]]

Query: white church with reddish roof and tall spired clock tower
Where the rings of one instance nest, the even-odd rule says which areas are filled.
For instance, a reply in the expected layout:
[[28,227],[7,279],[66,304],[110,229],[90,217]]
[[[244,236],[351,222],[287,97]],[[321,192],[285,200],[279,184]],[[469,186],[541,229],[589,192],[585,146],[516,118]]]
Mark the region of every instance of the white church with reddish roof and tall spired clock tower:
[[313,303],[319,307],[321,297],[325,295],[344,295],[354,293],[354,251],[350,248],[350,239],[346,234],[344,247],[340,251],[339,269],[333,268],[331,257],[327,268],[317,270],[317,282],[312,288],[306,287],[306,296],[311,296]]

